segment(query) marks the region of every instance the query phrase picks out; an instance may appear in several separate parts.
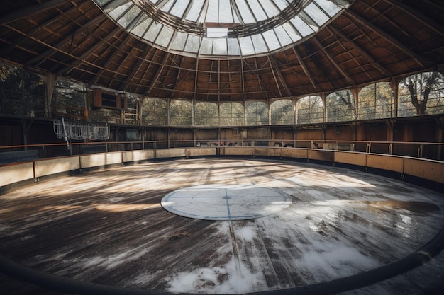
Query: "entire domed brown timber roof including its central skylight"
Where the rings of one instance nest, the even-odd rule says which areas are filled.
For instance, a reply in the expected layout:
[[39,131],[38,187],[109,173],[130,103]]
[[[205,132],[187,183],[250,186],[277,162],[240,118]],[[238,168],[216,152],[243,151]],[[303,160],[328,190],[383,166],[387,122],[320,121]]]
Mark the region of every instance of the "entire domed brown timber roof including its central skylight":
[[443,1],[2,1],[0,62],[195,101],[299,98],[443,71]]

